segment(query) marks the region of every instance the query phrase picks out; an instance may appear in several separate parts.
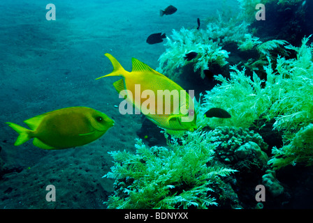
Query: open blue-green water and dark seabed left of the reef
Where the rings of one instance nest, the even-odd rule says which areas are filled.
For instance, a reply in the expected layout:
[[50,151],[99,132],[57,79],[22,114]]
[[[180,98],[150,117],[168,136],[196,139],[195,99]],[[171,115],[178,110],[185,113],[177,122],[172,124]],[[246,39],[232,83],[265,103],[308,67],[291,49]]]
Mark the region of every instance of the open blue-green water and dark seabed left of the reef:
[[[56,20],[46,19],[48,3]],[[177,12],[160,17],[170,4]],[[132,57],[157,68],[165,47],[148,45],[150,34],[196,29],[197,18],[204,29],[205,20],[226,8],[233,15],[240,10],[235,0],[0,0],[0,208],[106,208],[114,190],[113,180],[101,178],[112,167],[108,151],[135,151],[142,117],[119,114],[116,78],[95,80],[112,71],[104,54],[126,70]],[[45,151],[31,141],[13,146],[17,134],[5,122],[73,106],[104,112],[115,127],[81,148]],[[45,199],[47,185],[56,187],[57,201]]]

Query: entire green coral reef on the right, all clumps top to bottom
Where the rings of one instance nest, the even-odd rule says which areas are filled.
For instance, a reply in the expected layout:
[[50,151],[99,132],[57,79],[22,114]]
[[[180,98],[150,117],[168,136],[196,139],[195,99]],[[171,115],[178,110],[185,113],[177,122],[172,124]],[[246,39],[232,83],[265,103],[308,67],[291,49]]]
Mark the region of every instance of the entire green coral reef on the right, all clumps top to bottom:
[[[266,208],[277,201],[251,201],[256,185],[262,183],[270,197],[286,201],[289,189],[277,180],[277,170],[313,165],[310,36],[303,38],[300,47],[283,39],[256,37],[248,30],[251,21],[238,20],[254,19],[259,2],[238,1],[242,11],[237,19],[226,22],[219,16],[206,29],[173,30],[166,52],[159,58],[158,71],[176,79],[180,68],[191,64],[204,78],[212,64],[226,66],[230,52],[225,46],[229,43],[237,45],[238,52],[256,52],[259,57],[248,59],[242,68],[230,66],[229,78],[214,76],[220,84],[195,100],[195,132],[170,139],[165,130],[168,146],[149,148],[136,139],[136,154],[111,152],[115,166],[105,177],[115,179],[115,192],[108,199],[108,208]],[[299,1],[263,3],[286,6]],[[187,61],[184,56],[189,52],[197,55]],[[225,109],[232,117],[205,118],[212,107]],[[270,146],[272,157],[265,153],[268,144],[261,137],[269,123],[282,138],[282,145]],[[144,132],[138,134],[146,137],[150,146],[157,144]]]

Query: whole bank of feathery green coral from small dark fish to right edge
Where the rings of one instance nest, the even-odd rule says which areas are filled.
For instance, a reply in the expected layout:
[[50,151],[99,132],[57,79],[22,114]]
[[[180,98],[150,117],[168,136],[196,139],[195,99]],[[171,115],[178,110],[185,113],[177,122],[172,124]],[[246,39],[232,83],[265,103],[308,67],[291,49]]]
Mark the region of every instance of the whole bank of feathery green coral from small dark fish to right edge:
[[307,44],[309,38],[303,38],[301,47],[286,46],[286,49],[296,51],[296,58],[278,56],[275,70],[268,57],[264,86],[255,73],[251,79],[245,76],[245,69],[240,71],[232,67],[235,72],[231,72],[231,79],[216,76],[221,84],[204,95],[203,107],[221,107],[232,116],[229,119],[210,118],[208,125],[212,128],[224,125],[249,128],[258,118],[275,120],[273,127],[283,133],[284,139],[282,148],[273,149],[270,163],[276,168],[296,162],[312,165],[313,151],[304,146],[309,145],[310,140],[304,138],[307,141],[303,141],[302,146],[295,146],[294,141],[303,134],[298,131],[309,128],[313,120],[313,45]]

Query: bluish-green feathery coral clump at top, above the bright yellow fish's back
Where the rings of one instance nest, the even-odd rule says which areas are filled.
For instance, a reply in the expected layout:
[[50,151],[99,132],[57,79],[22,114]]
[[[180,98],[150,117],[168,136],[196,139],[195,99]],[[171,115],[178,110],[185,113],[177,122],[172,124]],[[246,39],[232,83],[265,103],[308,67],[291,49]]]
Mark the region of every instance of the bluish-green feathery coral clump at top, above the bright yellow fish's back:
[[[167,38],[165,44],[166,52],[159,58],[158,71],[175,79],[180,75],[177,68],[194,63],[194,71],[200,70],[201,77],[204,78],[203,70],[208,70],[212,63],[217,63],[219,66],[228,63],[230,52],[222,48],[225,43],[238,43],[242,49],[252,48],[252,45],[261,43],[252,34],[246,35],[248,23],[237,18],[226,20],[219,15],[215,22],[210,22],[206,26],[206,29],[173,30],[172,36]],[[189,52],[197,52],[198,56],[187,61],[184,56]]]

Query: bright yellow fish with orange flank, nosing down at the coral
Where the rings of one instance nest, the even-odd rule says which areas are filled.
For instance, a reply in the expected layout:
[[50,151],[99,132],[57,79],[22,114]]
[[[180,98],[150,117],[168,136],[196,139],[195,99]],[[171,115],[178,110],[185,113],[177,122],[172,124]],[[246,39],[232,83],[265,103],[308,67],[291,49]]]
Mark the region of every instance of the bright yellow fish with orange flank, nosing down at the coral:
[[[105,54],[105,56],[110,59],[113,71],[103,77],[123,77],[123,79],[115,82],[113,86],[115,86],[115,89],[121,95],[122,91],[126,90],[126,93],[124,93],[127,96],[126,101],[143,112],[152,122],[162,128],[174,131],[193,131],[197,128],[194,102],[191,96],[181,86],[137,59],[132,59],[133,68],[131,72],[128,72],[124,70],[112,55]],[[149,98],[146,94],[147,91],[153,93],[149,94]],[[163,93],[167,91],[173,93],[173,95],[170,97],[170,100],[166,101],[165,96],[163,97],[161,95],[158,97],[160,91],[163,91]],[[136,92],[139,92],[140,97],[138,97]],[[154,96],[152,97],[152,95]],[[174,95],[178,100],[174,99]],[[143,106],[147,104],[149,105]],[[166,106],[170,107],[170,109],[166,109],[168,108]]]

